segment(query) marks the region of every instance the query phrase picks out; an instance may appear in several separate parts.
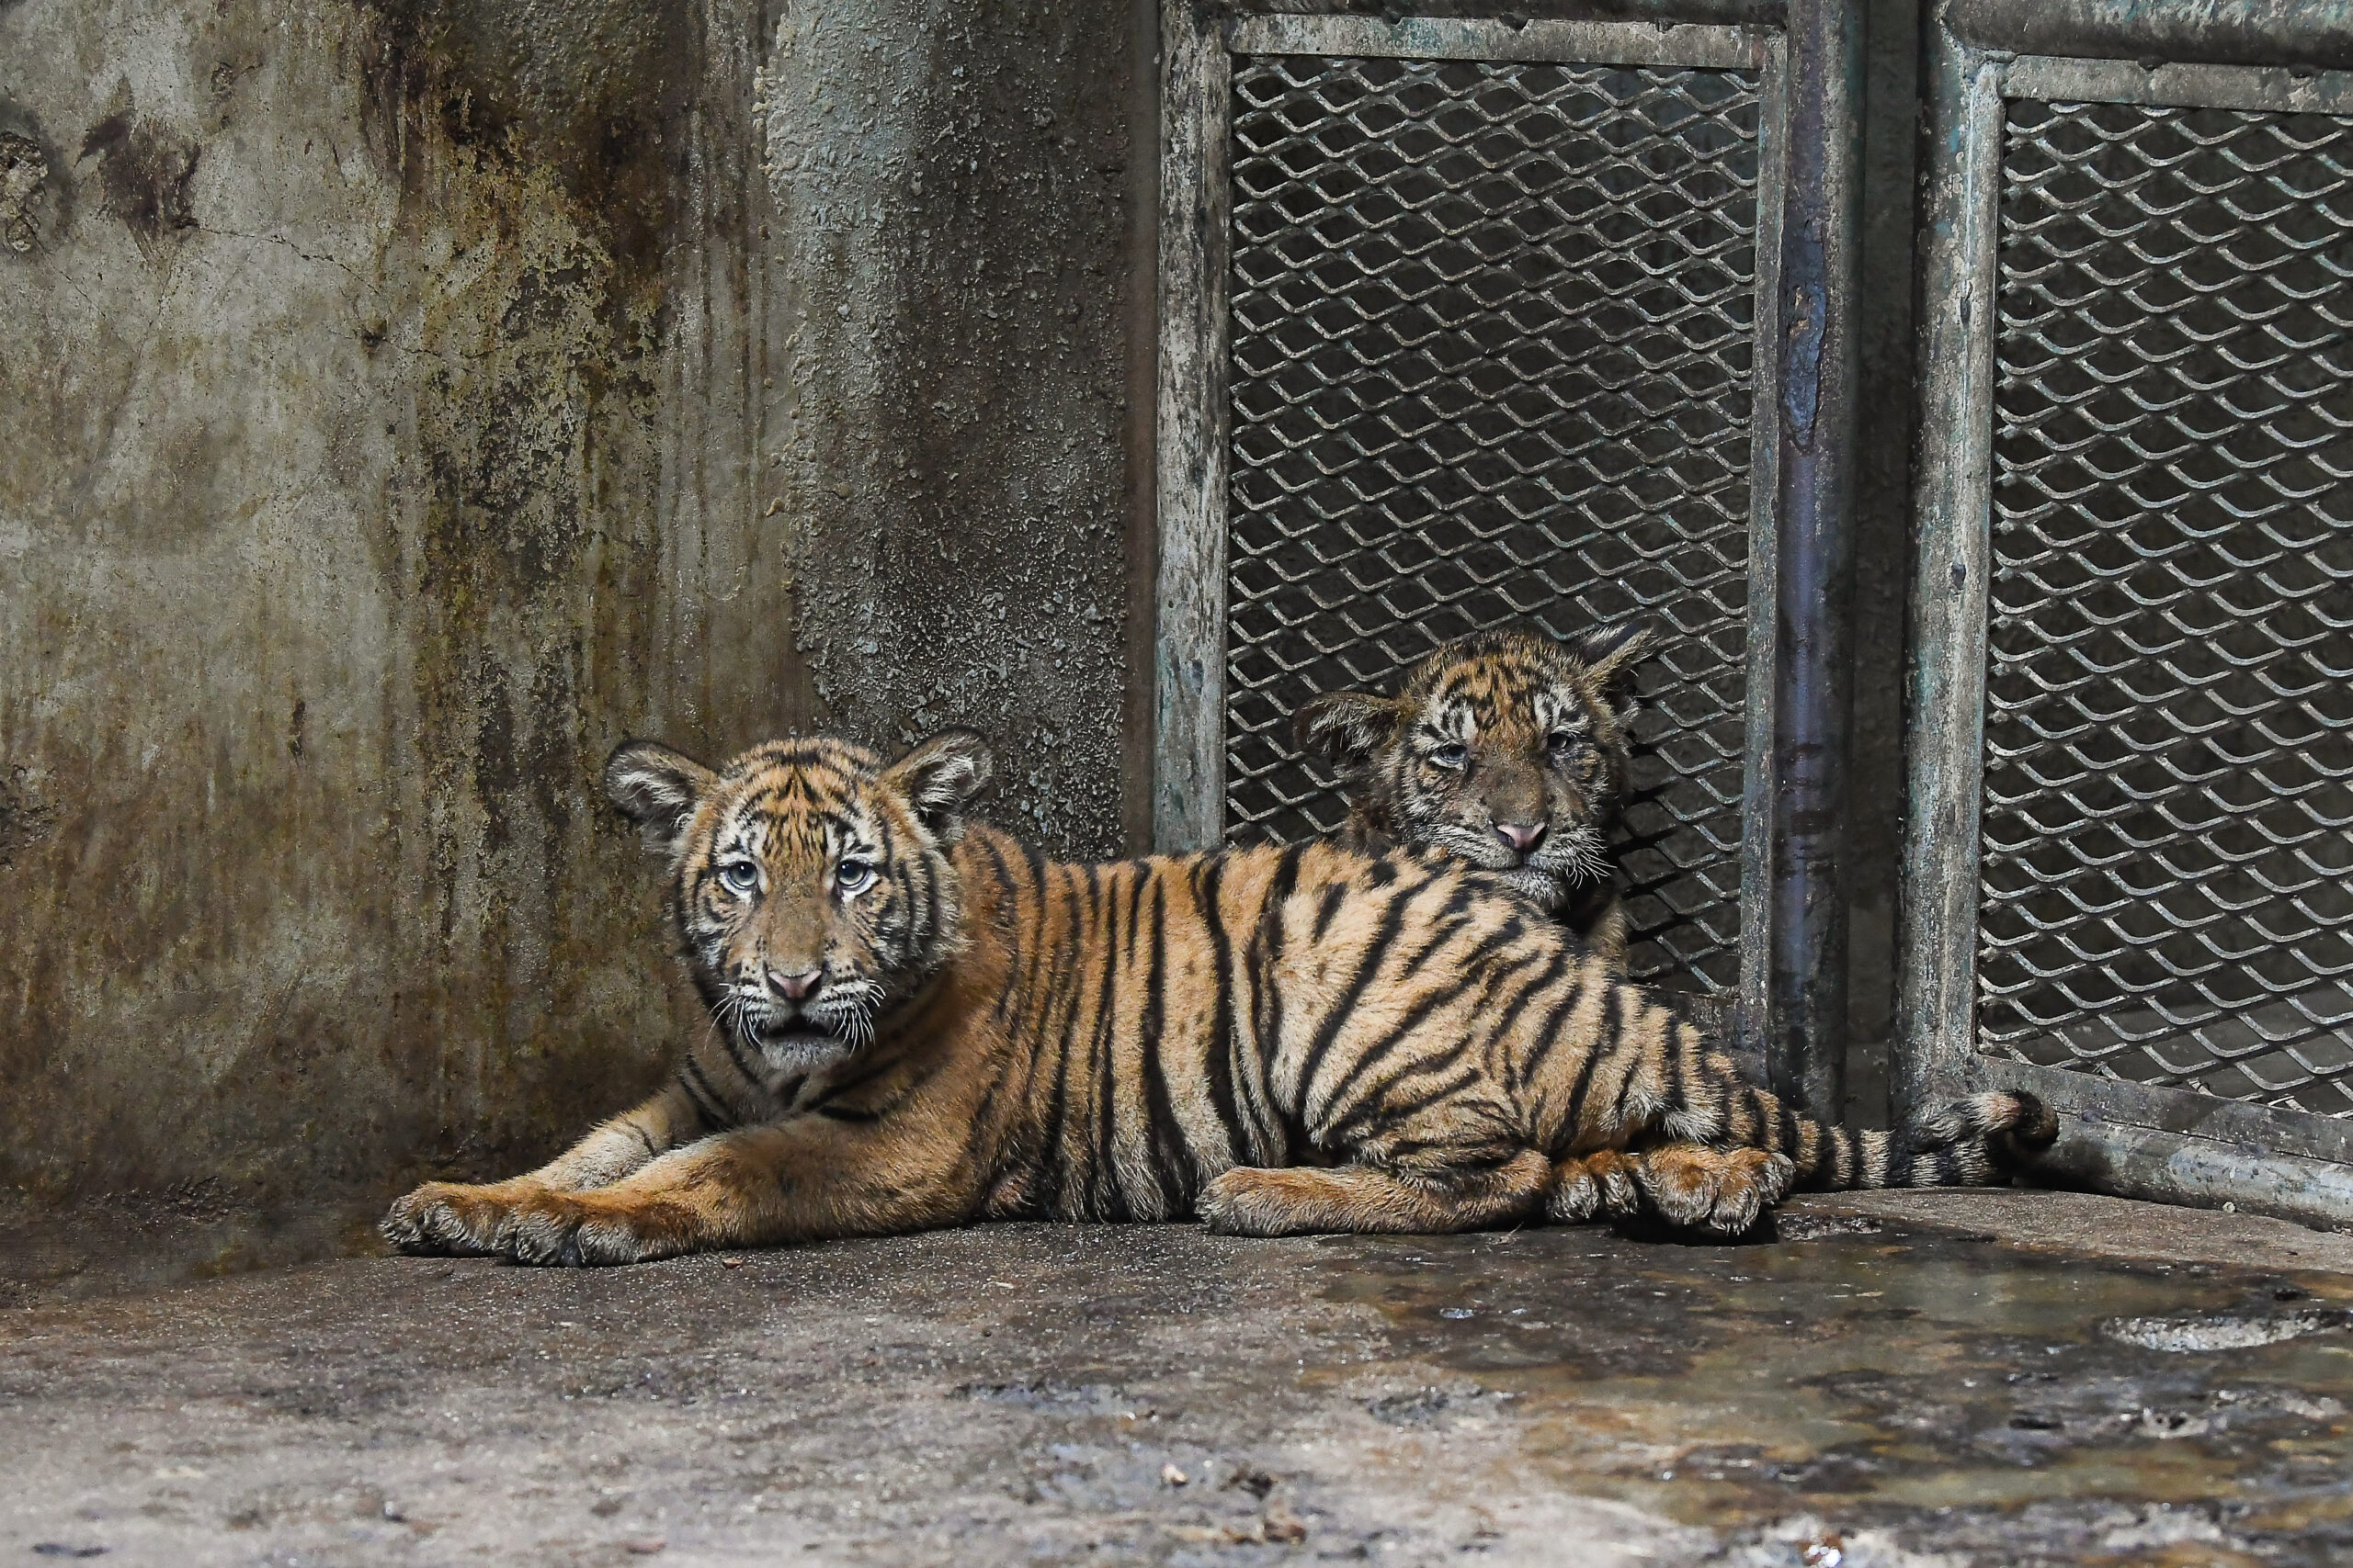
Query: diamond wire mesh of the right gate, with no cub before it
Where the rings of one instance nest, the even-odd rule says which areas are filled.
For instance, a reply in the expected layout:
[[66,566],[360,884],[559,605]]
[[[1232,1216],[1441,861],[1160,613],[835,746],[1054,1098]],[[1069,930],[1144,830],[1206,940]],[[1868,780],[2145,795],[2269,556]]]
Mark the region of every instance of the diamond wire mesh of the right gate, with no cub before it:
[[2005,118],[1979,1046],[2353,1114],[2353,120]]

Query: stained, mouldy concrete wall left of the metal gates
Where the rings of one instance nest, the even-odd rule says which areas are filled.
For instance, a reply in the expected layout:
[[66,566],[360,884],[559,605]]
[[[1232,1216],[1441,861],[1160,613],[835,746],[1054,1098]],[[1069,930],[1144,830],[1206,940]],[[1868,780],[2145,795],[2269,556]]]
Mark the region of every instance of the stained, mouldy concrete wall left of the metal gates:
[[384,1190],[645,1086],[628,733],[981,722],[1120,844],[1134,45],[0,0],[0,1182]]

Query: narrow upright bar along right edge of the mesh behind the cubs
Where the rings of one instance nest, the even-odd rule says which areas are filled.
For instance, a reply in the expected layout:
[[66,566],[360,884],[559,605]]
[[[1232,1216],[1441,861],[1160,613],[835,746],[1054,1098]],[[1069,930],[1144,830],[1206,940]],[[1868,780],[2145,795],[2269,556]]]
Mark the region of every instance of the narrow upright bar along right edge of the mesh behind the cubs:
[[[1758,113],[1758,280],[1755,320],[1781,299],[1781,219],[1788,205],[1788,47],[1765,56]],[[1755,334],[1755,421],[1748,442],[1748,712],[1741,764],[1741,983],[1722,1039],[1741,1072],[1767,1077],[1772,1020],[1772,745],[1779,733],[1781,552],[1772,548],[1781,508],[1781,334]]]

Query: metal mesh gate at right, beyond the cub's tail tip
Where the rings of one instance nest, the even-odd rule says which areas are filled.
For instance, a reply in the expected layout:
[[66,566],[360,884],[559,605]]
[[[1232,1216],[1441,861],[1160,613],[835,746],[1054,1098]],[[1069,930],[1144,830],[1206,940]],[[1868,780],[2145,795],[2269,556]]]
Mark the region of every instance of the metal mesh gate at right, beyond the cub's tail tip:
[[2353,75],[2294,59],[2346,31],[2141,9],[1932,52],[1899,1098],[2353,1220]]

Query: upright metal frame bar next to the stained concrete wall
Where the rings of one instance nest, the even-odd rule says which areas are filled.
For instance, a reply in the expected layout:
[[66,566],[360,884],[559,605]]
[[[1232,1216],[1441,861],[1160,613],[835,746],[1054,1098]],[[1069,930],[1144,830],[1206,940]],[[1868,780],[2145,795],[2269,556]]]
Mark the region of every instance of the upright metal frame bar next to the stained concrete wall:
[[1209,849],[1226,811],[1226,47],[1205,0],[1162,12],[1160,635],[1153,844]]

